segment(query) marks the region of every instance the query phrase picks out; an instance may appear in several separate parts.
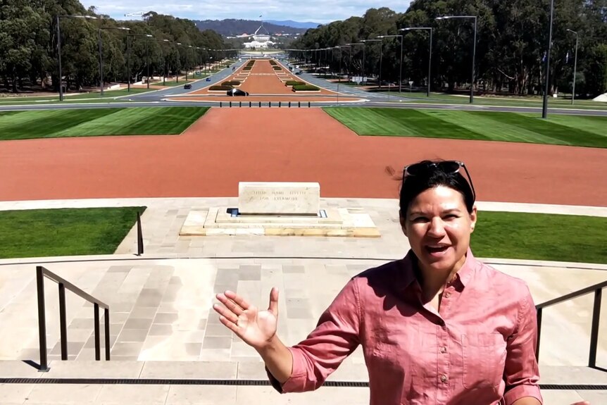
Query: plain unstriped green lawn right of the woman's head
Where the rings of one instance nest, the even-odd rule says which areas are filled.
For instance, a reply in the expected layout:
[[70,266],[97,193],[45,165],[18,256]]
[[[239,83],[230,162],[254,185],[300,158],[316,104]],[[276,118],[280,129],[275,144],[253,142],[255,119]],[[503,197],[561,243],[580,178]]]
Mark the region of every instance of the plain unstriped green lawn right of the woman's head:
[[607,218],[482,211],[475,256],[607,263]]

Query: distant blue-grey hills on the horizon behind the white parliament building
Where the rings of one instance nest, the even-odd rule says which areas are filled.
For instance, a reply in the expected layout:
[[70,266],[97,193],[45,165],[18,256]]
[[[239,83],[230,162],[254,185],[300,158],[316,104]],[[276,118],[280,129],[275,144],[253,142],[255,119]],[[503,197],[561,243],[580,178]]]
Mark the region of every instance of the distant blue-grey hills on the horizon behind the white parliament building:
[[[259,20],[236,20],[227,18],[225,20],[194,20],[199,30],[213,30],[225,37],[235,37],[242,34],[253,34],[261,25]],[[287,25],[290,24],[290,25]],[[294,27],[293,25],[299,25]],[[315,28],[317,23],[297,23],[296,21],[264,21],[263,27],[270,35],[275,34],[303,34],[308,28]],[[259,30],[259,34],[265,34],[265,30]]]

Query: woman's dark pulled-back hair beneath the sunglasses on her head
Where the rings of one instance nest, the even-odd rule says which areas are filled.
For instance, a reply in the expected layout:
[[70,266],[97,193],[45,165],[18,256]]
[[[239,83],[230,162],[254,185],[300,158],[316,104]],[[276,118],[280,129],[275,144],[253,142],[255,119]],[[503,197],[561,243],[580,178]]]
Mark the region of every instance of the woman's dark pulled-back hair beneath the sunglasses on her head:
[[[432,163],[438,163],[440,161],[442,160],[420,161],[418,163],[431,165]],[[404,177],[403,173],[400,173],[400,175],[396,174],[393,168],[386,168],[387,173],[392,174],[394,179],[402,180],[399,201],[401,217],[406,217],[407,208],[415,197],[418,197],[418,195],[425,192],[425,190],[437,186],[449,187],[460,192],[462,194],[466,209],[468,209],[468,213],[472,213],[475,196],[472,188],[470,187],[470,183],[468,183],[468,181],[462,175],[463,168],[460,168],[460,170],[456,171],[455,173],[446,173],[437,166],[429,167],[432,168],[429,170],[423,170],[416,175],[408,175],[406,177]]]

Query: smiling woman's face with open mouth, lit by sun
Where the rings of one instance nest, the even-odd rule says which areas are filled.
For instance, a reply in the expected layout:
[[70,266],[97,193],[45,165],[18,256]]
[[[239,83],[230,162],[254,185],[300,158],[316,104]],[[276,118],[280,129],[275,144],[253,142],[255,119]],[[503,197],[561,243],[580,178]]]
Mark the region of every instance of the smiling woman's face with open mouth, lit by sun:
[[438,186],[425,190],[409,204],[401,226],[423,270],[449,273],[459,270],[470,246],[476,223],[465,207],[463,195]]

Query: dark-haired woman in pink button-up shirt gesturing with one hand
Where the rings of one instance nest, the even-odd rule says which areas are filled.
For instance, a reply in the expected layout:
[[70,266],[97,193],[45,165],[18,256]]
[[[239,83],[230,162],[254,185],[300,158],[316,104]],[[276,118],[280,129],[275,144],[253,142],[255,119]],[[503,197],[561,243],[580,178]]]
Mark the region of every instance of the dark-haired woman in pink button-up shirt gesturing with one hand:
[[267,311],[218,294],[220,321],[258,351],[279,392],[317,389],[361,344],[372,405],[542,404],[529,289],[470,251],[477,208],[468,169],[407,166],[399,214],[406,257],[351,278],[303,342],[286,347],[277,337],[275,288]]

